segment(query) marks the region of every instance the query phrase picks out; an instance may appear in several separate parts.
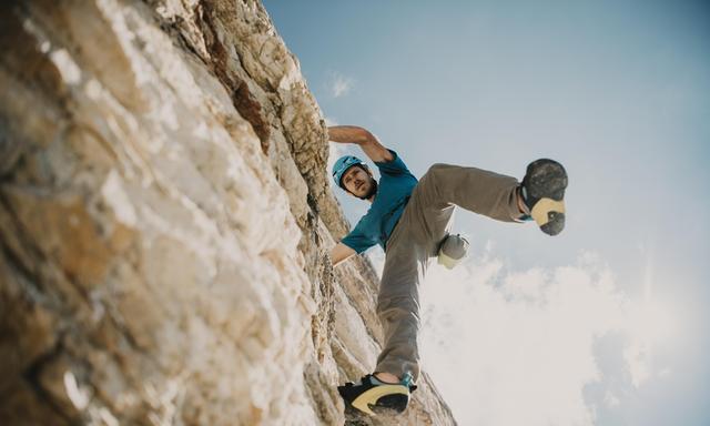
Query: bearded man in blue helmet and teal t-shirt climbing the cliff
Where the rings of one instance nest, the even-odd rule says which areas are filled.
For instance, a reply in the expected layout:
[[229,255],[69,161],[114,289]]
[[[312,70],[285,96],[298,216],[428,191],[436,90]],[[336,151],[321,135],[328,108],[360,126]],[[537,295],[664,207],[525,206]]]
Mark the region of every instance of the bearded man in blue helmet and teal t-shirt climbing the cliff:
[[[480,169],[434,164],[417,181],[395,151],[363,128],[331,126],[328,139],[359,145],[381,174],[378,182],[372,170],[352,155],[335,162],[335,184],[371,206],[332,248],[333,265],[375,244],[385,251],[377,297],[384,346],[375,372],[339,386],[338,392],[346,404],[367,414],[383,409],[400,413],[419,375],[419,283],[432,258],[440,257],[450,241],[455,206],[498,221],[535,220],[542,232],[557,235],[565,226],[567,173],[561,164],[547,159],[531,162],[523,182]],[[463,256],[463,243],[457,239],[448,244],[454,247],[450,256]]]

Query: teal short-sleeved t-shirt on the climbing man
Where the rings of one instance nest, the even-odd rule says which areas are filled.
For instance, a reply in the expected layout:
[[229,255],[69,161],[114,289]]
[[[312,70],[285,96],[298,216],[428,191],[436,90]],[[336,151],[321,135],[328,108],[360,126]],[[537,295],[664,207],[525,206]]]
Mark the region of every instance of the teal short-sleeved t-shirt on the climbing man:
[[392,231],[407,206],[417,179],[409,172],[399,155],[389,150],[394,159],[375,162],[379,170],[377,195],[367,213],[357,222],[341,242],[357,253],[363,253],[375,244],[386,247]]

